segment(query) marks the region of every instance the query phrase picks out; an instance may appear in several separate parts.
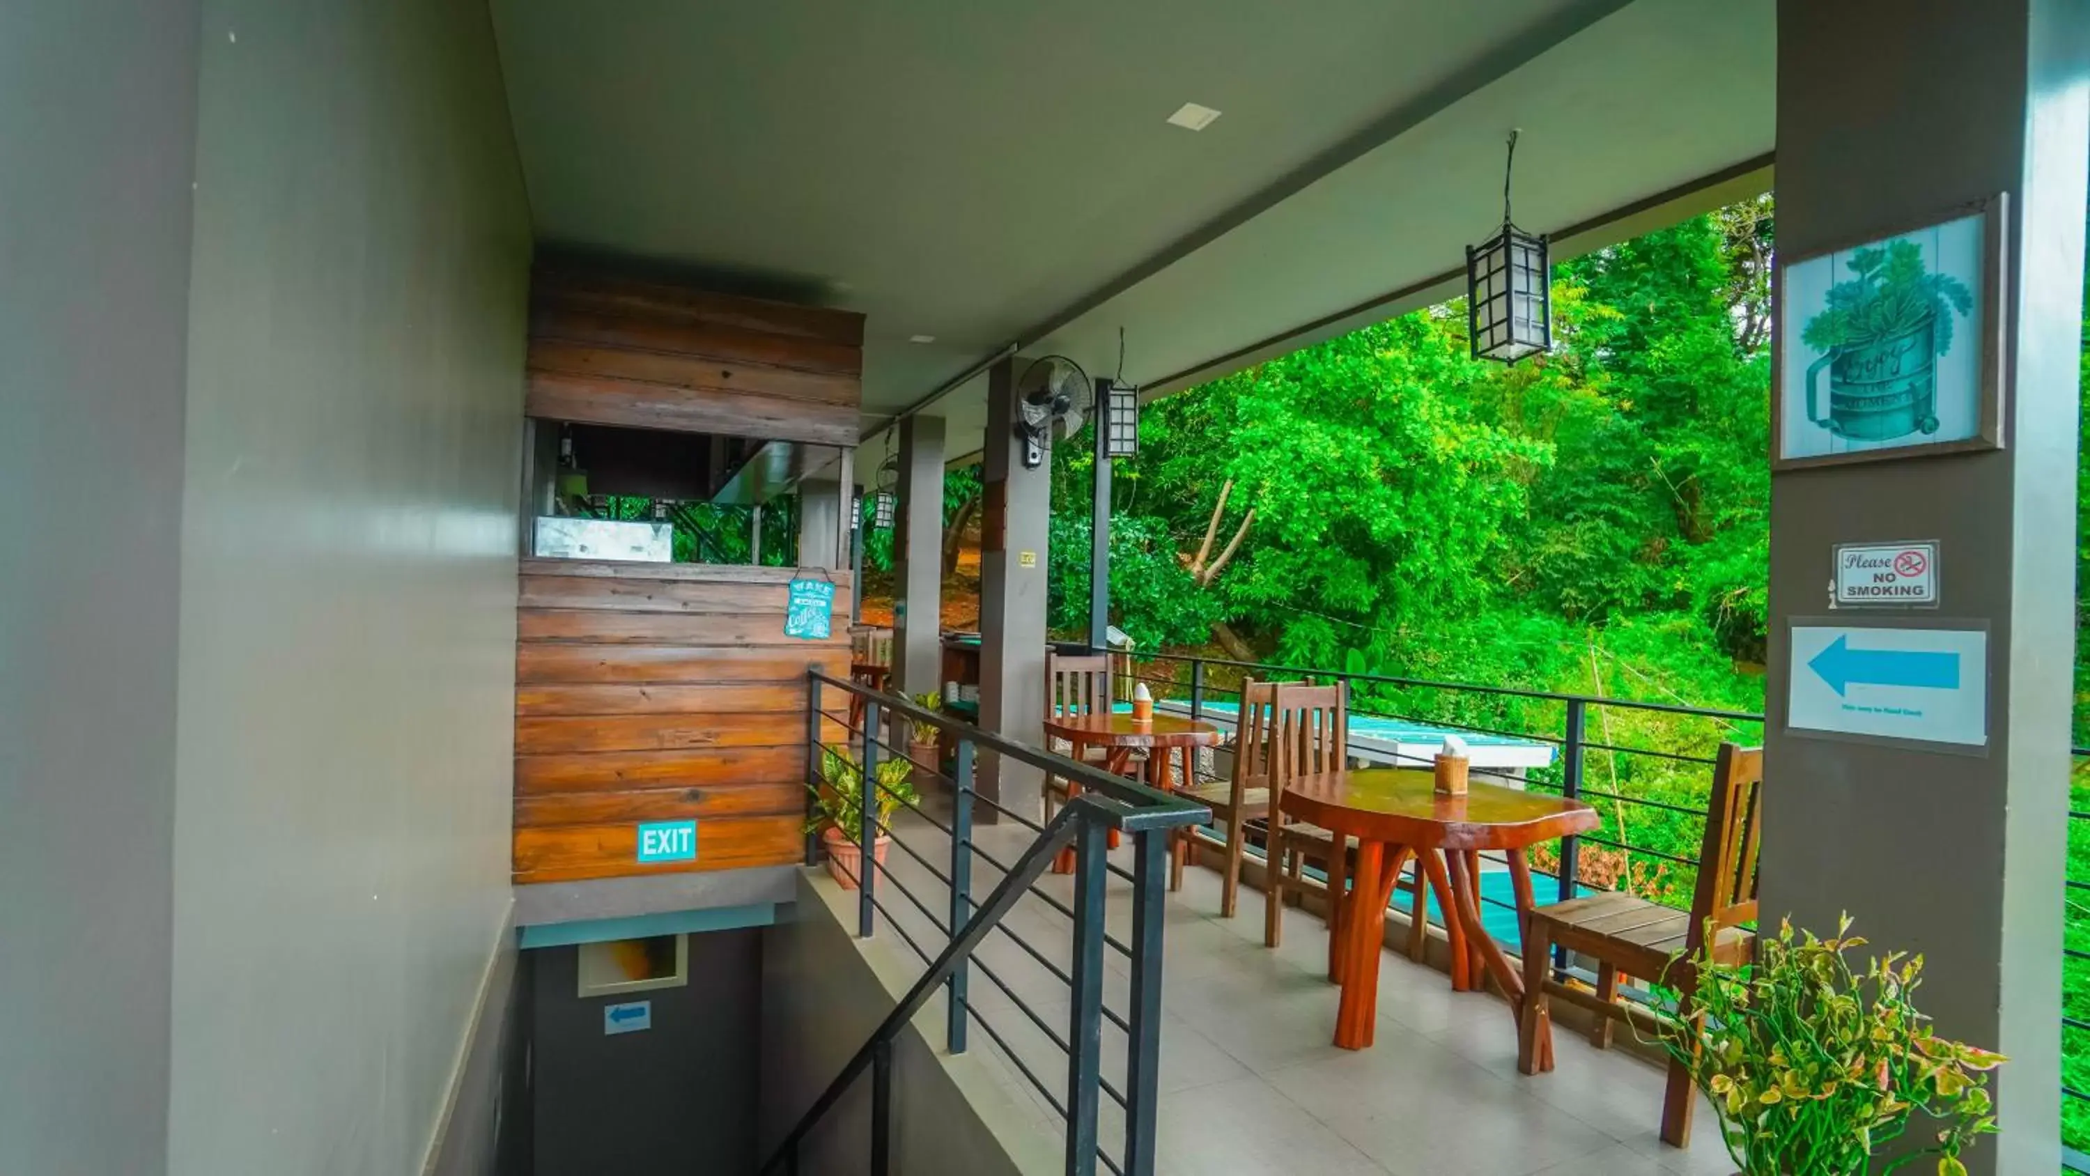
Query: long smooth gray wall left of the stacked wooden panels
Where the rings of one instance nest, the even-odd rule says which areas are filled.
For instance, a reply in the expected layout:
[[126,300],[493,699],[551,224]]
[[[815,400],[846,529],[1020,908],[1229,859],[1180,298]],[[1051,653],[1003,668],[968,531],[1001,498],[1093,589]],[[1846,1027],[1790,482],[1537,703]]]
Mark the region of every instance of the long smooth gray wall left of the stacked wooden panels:
[[508,913],[529,213],[485,4],[207,0],[169,1172],[418,1172]]

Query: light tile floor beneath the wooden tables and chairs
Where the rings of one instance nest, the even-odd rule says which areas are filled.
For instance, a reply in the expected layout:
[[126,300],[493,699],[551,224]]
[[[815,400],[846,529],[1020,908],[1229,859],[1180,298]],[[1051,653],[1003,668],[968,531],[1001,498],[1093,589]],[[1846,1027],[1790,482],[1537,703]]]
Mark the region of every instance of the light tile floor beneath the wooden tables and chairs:
[[[949,840],[909,819],[901,838],[949,865]],[[1030,833],[1001,823],[980,827],[978,844],[1014,863]],[[1118,863],[1131,867],[1129,850]],[[890,875],[938,919],[949,892],[901,850]],[[974,894],[984,898],[1001,873],[974,865]],[[1072,898],[1072,877],[1047,875],[1041,890]],[[901,925],[934,955],[943,936],[890,888],[880,896]],[[1112,877],[1110,932],[1131,938],[1131,884]],[[1058,967],[1068,965],[1066,917],[1026,898],[1009,927]],[[1068,990],[1018,944],[995,934],[982,963],[1028,1003],[1060,1038]],[[1283,946],[1262,946],[1262,896],[1241,892],[1241,913],[1218,917],[1218,875],[1189,869],[1168,900],[1162,965],[1160,1170],[1170,1176],[1522,1176],[1522,1174],[1689,1174],[1735,1170],[1699,1107],[1689,1151],[1655,1138],[1662,1072],[1622,1051],[1597,1051],[1572,1032],[1555,1034],[1553,1074],[1517,1074],[1515,1028],[1507,1007],[1476,992],[1453,992],[1444,973],[1386,952],[1379,969],[1379,1026],[1367,1051],[1329,1044],[1338,990],[1325,980],[1327,930],[1321,919],[1285,911]],[[1127,1007],[1129,965],[1106,950],[1106,1003]],[[984,975],[972,980],[974,1049],[1003,1061],[1003,1072],[1037,1107],[1037,1126],[1064,1138],[1064,1120],[1020,1072],[1020,1057],[1064,1097],[1066,1055]],[[984,1019],[1007,1051],[980,1032]],[[1624,1030],[1622,1030],[1624,1032]],[[1104,1024],[1104,1078],[1122,1090],[1124,1034]],[[1104,1099],[1104,1151],[1120,1155],[1124,1118]]]

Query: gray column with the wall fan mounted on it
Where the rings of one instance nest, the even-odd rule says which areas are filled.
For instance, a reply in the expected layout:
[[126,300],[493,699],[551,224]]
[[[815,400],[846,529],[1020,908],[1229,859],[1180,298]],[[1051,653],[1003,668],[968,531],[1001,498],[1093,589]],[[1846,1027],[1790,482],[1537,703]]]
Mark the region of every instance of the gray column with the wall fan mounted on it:
[[[1030,746],[1045,742],[1045,533],[1051,518],[1051,451],[1024,468],[1016,437],[1016,374],[1028,359],[986,372],[986,449],[980,455],[980,725]],[[982,796],[1030,804],[1041,773],[980,752]],[[982,810],[989,819],[993,810]]]

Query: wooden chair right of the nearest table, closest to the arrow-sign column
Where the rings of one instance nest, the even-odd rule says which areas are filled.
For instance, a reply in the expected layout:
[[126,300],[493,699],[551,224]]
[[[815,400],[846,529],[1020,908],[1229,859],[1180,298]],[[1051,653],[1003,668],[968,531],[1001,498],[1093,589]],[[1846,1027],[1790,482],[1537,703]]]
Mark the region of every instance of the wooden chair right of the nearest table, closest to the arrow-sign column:
[[[1676,988],[1676,1017],[1695,1021],[1691,992],[1697,978],[1689,965],[1712,936],[1718,963],[1743,963],[1756,950],[1756,936],[1743,923],[1756,921],[1756,859],[1764,825],[1764,752],[1720,744],[1714,760],[1712,804],[1705,810],[1705,842],[1699,848],[1697,892],[1691,911],[1659,907],[1630,894],[1590,894],[1553,907],[1538,907],[1524,923],[1524,1019],[1517,1034],[1517,1069],[1553,1069],[1538,1040],[1551,1017],[1551,996],[1599,1013],[1590,1044],[1611,1044],[1611,1021],[1634,1013],[1618,1001],[1618,978],[1636,975]],[[1563,946],[1597,961],[1597,992],[1568,988],[1553,980],[1553,948]],[[1645,1015],[1645,1013],[1643,1013]],[[1662,1140],[1691,1143],[1691,1107],[1697,1095],[1691,1074],[1670,1061],[1662,1097]]]

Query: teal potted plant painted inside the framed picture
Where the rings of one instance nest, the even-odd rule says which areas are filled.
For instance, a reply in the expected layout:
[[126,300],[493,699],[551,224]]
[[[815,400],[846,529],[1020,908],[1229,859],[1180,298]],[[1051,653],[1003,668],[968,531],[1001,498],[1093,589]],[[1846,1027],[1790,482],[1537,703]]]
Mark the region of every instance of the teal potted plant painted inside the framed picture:
[[[1799,332],[1822,353],[1808,366],[1808,420],[1856,441],[1937,432],[1935,361],[1952,349],[1952,311],[1973,311],[1973,292],[1950,274],[1927,274],[1912,240],[1854,249],[1850,272]],[[1822,368],[1827,414],[1816,411]]]

